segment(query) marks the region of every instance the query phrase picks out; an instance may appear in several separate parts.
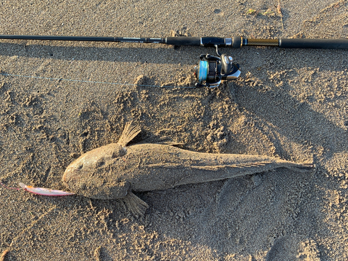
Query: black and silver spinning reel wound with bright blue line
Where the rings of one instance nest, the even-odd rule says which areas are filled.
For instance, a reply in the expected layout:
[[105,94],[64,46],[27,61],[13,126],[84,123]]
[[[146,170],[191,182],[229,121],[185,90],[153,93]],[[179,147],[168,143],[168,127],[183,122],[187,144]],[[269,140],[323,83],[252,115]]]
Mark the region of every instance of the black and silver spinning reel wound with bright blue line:
[[221,80],[237,79],[241,74],[239,64],[232,63],[232,57],[227,54],[220,54],[216,45],[216,54],[201,54],[198,64],[195,67],[195,75],[198,83],[196,87],[207,86],[209,88],[217,87]]

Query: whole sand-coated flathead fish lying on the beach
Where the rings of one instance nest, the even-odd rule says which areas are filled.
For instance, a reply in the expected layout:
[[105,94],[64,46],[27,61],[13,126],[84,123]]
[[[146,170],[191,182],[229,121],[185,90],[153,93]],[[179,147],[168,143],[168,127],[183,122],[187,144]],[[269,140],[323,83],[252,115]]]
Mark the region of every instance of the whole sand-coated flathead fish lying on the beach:
[[118,143],[90,150],[73,161],[65,170],[63,183],[73,193],[88,198],[122,198],[133,214],[141,216],[148,204],[132,191],[164,190],[275,168],[313,168],[311,164],[274,157],[192,152],[172,145],[145,143],[126,147],[139,132],[140,127],[127,123]]

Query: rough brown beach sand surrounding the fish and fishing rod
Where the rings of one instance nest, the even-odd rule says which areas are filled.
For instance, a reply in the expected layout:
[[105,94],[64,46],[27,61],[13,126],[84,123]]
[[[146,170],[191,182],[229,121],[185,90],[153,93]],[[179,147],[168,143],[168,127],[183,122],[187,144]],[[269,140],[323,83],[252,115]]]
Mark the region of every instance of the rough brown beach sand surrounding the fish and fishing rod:
[[[348,37],[347,0],[3,0],[0,8],[2,34]],[[279,169],[137,193],[150,205],[141,219],[120,200],[0,187],[3,259],[347,260],[347,51],[221,51],[242,66],[237,81],[159,88],[190,86],[198,56],[214,49],[1,40],[7,186],[65,189],[68,164],[117,141],[131,119],[143,128],[136,142],[315,164],[313,173]]]

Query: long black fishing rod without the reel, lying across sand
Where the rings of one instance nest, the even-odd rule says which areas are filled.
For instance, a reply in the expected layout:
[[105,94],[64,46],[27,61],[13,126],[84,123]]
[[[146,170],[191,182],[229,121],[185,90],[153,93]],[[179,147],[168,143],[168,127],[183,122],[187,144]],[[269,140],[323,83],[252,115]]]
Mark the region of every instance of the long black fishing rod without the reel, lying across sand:
[[93,41],[93,42],[144,42],[162,43],[166,45],[192,45],[204,47],[242,46],[274,46],[280,48],[301,49],[348,49],[348,39],[246,39],[240,36],[232,38],[220,37],[167,37],[167,38],[125,38],[125,37],[93,37],[93,36],[54,36],[54,35],[0,35],[0,39],[22,40],[63,40],[63,41]]

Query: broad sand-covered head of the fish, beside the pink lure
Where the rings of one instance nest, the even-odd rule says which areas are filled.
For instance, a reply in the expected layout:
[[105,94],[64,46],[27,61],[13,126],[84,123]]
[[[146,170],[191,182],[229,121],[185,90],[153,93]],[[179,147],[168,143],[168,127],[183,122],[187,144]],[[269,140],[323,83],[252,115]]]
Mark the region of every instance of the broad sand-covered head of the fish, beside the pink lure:
[[74,160],[63,174],[62,181],[70,191],[89,198],[122,198],[129,185],[122,180],[110,180],[113,161],[127,150],[118,143],[96,148]]

